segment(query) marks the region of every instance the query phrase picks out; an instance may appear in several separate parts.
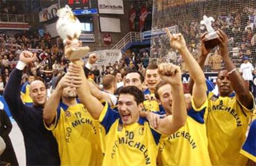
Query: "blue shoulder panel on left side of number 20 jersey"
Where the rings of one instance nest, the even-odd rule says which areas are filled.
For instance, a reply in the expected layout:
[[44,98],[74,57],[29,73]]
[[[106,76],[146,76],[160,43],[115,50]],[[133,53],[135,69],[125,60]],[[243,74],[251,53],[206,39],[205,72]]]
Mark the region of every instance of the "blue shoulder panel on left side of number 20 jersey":
[[108,106],[108,110],[106,111],[106,115],[103,118],[101,125],[103,125],[103,127],[106,130],[106,135],[108,134],[109,129],[111,128],[111,126],[113,125],[114,122],[116,122],[117,118],[120,118],[119,116],[119,112],[114,111],[113,109],[111,109]]

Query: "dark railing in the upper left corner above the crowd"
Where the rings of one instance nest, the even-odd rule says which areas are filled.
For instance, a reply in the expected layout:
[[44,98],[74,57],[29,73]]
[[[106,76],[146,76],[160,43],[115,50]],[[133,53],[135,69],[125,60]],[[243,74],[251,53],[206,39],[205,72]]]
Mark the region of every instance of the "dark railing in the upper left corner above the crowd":
[[0,14],[1,22],[34,22],[32,14]]

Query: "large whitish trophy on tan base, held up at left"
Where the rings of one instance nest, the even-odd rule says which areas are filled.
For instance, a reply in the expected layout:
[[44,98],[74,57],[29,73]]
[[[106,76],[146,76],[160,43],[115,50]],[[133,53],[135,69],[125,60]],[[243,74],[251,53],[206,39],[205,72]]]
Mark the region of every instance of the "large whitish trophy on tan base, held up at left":
[[[79,36],[82,31],[81,25],[79,19],[75,17],[70,7],[66,5],[59,9],[57,15],[59,19],[56,28],[59,36],[63,39],[63,43],[66,44],[66,39],[70,39],[71,44],[79,43]],[[81,59],[82,57],[85,57],[89,51],[90,48],[87,46],[72,48],[67,52],[66,56],[69,60]]]

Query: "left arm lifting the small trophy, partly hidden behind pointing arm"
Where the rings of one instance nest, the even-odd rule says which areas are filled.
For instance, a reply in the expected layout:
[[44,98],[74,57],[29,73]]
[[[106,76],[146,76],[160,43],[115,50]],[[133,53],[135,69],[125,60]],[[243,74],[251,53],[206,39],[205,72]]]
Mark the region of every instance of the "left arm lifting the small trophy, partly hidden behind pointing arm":
[[[205,60],[207,59],[207,56],[208,54],[211,52],[211,49],[206,49],[205,48],[205,35],[207,35],[207,33],[204,33],[202,36],[201,36],[201,54],[200,56],[198,57],[198,60],[197,60],[197,63],[198,65],[200,66],[200,68],[203,68],[205,67]],[[192,94],[193,93],[193,86],[194,86],[194,79],[190,79],[189,80],[189,93]]]

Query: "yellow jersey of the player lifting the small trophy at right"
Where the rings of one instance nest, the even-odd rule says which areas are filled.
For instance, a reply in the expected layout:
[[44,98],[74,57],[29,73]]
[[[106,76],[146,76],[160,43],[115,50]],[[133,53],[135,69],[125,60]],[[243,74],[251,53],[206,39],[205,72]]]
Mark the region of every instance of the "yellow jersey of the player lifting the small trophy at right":
[[229,97],[215,96],[211,92],[208,94],[206,124],[211,164],[246,164],[247,158],[239,151],[245,141],[252,110],[243,106],[235,94]]

